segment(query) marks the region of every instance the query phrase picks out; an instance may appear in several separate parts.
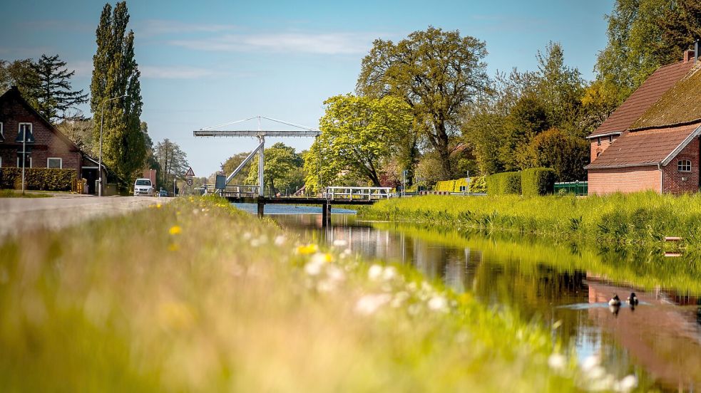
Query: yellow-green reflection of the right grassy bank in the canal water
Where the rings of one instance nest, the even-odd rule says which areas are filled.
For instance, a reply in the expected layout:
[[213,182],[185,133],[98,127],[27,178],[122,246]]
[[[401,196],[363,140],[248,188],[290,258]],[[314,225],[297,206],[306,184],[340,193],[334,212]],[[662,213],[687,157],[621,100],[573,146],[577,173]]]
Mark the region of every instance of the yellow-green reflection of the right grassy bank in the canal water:
[[701,294],[701,258],[697,258],[697,253],[682,258],[665,258],[659,250],[573,246],[572,243],[543,241],[532,236],[523,241],[510,234],[484,236],[474,231],[426,224],[376,223],[374,226],[444,246],[479,250],[482,258],[492,263],[508,263],[522,273],[532,272],[526,274],[529,277],[538,277],[535,272],[539,266],[551,266],[558,272],[589,271],[638,288],[662,287]]

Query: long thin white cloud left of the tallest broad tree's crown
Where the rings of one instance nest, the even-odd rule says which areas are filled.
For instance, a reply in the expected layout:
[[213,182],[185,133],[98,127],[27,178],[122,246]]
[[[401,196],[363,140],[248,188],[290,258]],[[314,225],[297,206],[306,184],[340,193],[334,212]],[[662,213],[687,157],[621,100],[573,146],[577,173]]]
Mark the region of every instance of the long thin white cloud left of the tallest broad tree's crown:
[[275,33],[275,34],[224,34],[210,38],[169,41],[170,45],[195,51],[313,54],[366,53],[377,38],[367,33]]

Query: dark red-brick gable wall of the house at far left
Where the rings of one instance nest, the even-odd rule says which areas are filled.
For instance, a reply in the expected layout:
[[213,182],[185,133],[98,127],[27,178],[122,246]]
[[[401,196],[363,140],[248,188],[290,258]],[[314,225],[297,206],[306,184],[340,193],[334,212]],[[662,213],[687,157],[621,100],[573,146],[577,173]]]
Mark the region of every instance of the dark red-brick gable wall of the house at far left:
[[[19,134],[19,123],[31,123],[35,142],[31,144],[31,166],[46,168],[48,157],[63,159],[63,169],[76,169],[81,174],[81,153],[76,147],[62,140],[36,113],[28,110],[14,97],[6,97],[0,102],[0,122],[3,123],[4,142],[0,142],[0,157],[3,167],[17,167],[17,148],[21,142],[14,142]],[[30,146],[30,145],[28,145]]]

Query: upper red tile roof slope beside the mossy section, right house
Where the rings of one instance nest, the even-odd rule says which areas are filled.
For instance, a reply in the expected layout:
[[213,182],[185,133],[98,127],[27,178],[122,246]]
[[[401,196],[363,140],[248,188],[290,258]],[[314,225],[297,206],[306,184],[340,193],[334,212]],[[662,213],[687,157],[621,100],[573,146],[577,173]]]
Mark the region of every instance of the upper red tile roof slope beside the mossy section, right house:
[[680,61],[657,68],[653,75],[650,75],[589,137],[628,130],[667,90],[687,75],[692,66],[693,61]]

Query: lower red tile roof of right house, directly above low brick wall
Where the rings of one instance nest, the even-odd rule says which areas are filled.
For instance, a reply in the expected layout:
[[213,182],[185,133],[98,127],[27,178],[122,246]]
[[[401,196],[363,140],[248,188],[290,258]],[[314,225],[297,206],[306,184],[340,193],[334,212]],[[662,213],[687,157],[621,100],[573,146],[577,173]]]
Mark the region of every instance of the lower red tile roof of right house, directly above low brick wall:
[[685,142],[700,123],[677,127],[628,131],[586,168],[635,167],[661,163]]

